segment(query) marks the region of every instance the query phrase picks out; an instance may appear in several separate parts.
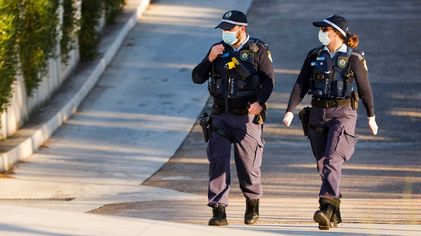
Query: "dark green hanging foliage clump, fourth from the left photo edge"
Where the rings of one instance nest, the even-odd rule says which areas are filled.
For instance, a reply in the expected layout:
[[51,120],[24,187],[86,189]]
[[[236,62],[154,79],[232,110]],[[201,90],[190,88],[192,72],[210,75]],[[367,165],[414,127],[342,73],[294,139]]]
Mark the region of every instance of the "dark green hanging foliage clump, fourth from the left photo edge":
[[99,20],[104,13],[103,0],[83,0],[80,19],[79,50],[81,61],[91,61],[99,58],[98,52],[101,34]]

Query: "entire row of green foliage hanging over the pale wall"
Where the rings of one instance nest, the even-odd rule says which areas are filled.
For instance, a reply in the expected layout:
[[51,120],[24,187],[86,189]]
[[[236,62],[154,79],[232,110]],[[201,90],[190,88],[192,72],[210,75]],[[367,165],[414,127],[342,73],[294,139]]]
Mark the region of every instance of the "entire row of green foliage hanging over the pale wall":
[[67,65],[77,37],[81,61],[101,56],[100,18],[106,13],[107,24],[114,23],[125,0],[82,0],[80,16],[77,3],[80,1],[0,0],[0,114],[7,110],[16,75],[23,76],[27,95],[32,97],[48,74],[50,59],[61,56]]

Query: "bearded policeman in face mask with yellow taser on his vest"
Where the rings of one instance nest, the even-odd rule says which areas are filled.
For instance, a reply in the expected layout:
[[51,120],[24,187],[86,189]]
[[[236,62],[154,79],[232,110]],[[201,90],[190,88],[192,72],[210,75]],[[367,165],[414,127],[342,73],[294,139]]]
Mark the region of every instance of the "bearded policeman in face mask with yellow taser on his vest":
[[207,155],[209,165],[208,206],[210,226],[226,226],[225,207],[230,187],[231,144],[240,189],[246,198],[244,223],[258,220],[259,198],[263,194],[260,165],[264,140],[266,101],[274,87],[272,57],[268,46],[245,33],[247,18],[232,10],[215,27],[223,30],[223,41],[214,44],[192,72],[193,82],[208,81],[213,96],[211,135]]

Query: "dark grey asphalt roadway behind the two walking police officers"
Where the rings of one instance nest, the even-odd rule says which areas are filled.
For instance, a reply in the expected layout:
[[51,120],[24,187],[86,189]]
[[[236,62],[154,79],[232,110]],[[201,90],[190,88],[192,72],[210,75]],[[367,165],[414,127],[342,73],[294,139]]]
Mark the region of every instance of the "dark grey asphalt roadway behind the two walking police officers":
[[[421,32],[416,1],[352,1],[331,7],[315,1],[256,0],[248,12],[247,32],[269,45],[275,88],[264,125],[261,223],[309,223],[317,210],[320,176],[298,111],[290,127],[282,123],[288,98],[306,54],[319,46],[312,21],[344,16],[349,31],[360,35],[375,101],[378,135],[370,133],[365,108],[357,110],[356,151],[345,163],[341,181],[344,223],[421,223]],[[212,30],[212,29],[210,29]],[[219,34],[215,31],[215,34]],[[205,52],[202,52],[203,55]],[[205,90],[205,86],[197,90]],[[209,111],[209,105],[203,111]],[[206,144],[196,123],[187,139],[157,173],[142,185],[206,196]],[[232,160],[232,188],[227,208],[230,223],[241,223],[244,197]],[[107,205],[94,213],[129,215],[189,223],[205,223],[206,201],[162,201]],[[379,226],[381,227],[381,226]]]

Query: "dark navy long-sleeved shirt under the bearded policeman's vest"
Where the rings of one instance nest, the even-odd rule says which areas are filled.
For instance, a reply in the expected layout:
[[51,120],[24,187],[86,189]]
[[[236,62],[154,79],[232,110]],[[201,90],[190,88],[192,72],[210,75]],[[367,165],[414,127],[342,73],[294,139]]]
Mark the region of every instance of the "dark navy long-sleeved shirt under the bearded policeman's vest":
[[[247,37],[248,39],[249,37]],[[247,40],[245,40],[247,42]],[[244,42],[244,43],[245,43]],[[216,43],[218,45],[220,43]],[[257,46],[259,50],[254,52],[255,55],[253,56],[253,65],[257,69],[257,73],[261,78],[261,89],[260,94],[258,96],[247,97],[246,99],[242,98],[230,98],[228,99],[228,107],[232,109],[244,109],[248,108],[247,103],[256,102],[257,100],[261,100],[262,102],[266,102],[269,99],[270,94],[274,88],[275,76],[273,72],[272,66],[272,58],[269,59],[269,48],[268,46],[262,42],[258,41]],[[206,54],[205,58],[203,58],[202,62],[197,65],[192,72],[192,80],[195,84],[203,84],[205,83],[210,77],[210,71],[212,70],[212,63],[209,61],[209,53],[212,50],[210,47],[208,53]],[[240,47],[238,48],[240,50]],[[269,52],[269,53],[268,53]],[[218,60],[216,58],[215,60]],[[216,69],[216,68],[215,68]],[[224,98],[214,97],[213,98],[214,104],[225,105]]]

